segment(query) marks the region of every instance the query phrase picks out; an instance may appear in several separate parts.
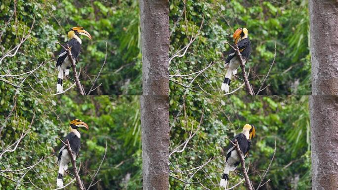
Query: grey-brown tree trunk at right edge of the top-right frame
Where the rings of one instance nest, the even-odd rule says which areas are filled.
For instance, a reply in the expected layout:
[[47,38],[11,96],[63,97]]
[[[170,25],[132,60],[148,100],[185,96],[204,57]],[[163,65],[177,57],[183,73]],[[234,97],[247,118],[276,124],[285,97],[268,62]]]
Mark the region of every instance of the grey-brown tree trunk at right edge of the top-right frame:
[[309,0],[312,95],[338,95],[338,1]]

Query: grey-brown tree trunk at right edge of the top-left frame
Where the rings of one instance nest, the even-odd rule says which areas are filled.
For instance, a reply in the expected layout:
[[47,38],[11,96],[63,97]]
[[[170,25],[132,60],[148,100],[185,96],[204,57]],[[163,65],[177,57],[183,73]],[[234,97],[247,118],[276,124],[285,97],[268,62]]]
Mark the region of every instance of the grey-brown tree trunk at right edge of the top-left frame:
[[143,95],[169,93],[169,1],[140,0]]

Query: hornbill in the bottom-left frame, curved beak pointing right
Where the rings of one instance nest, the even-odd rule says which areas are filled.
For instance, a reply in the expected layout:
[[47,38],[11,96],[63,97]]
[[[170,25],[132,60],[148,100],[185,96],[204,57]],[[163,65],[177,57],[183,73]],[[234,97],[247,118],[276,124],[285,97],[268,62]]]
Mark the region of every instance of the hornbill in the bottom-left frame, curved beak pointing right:
[[[66,139],[69,141],[69,145],[76,157],[79,153],[80,146],[81,146],[81,135],[77,130],[79,127],[84,127],[88,130],[88,125],[85,124],[80,119],[74,119],[69,123],[69,131],[70,133],[66,136],[63,142],[66,142]],[[59,156],[57,158],[57,165],[59,165],[59,172],[57,175],[56,186],[57,188],[63,187],[63,171],[68,169],[68,163],[71,161],[71,157],[68,154],[68,150],[66,146],[63,144],[59,151]]]

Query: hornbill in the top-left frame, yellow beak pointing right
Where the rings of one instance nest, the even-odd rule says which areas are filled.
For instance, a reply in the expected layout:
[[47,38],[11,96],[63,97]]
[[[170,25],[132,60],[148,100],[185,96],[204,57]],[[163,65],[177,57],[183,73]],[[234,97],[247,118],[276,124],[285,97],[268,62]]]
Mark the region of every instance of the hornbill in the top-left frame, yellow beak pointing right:
[[[91,40],[90,34],[85,31],[83,27],[78,26],[70,29],[70,31],[68,32],[68,38],[70,39],[70,41],[68,41],[67,44],[71,48],[74,60],[76,60],[81,50],[82,41],[78,37],[79,35],[84,35]],[[56,67],[59,71],[59,74],[57,75],[56,93],[61,93],[63,91],[63,74],[69,74],[69,69],[71,68],[71,65],[72,62],[71,60],[69,60],[66,50],[62,48],[56,62]]]

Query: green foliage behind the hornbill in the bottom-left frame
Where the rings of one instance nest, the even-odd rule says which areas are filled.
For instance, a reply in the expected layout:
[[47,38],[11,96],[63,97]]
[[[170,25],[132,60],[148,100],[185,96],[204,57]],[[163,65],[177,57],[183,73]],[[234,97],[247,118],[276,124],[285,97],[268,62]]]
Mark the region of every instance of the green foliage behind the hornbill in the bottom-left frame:
[[[47,157],[22,178],[24,184],[13,183],[22,177],[11,172],[0,175],[0,189],[19,190],[35,189],[35,186],[48,189],[49,183],[55,188],[58,166],[56,155],[61,142],[55,137],[63,139],[68,131],[68,123],[80,118],[89,126],[89,131],[80,131],[82,134],[82,146],[77,159],[84,164],[85,168],[94,172],[99,166],[104,155],[105,140],[107,139],[107,155],[96,180],[101,181],[96,185],[97,189],[139,189],[142,187],[142,161],[140,139],[140,114],[138,96],[90,96],[77,97],[62,96],[57,100],[55,97],[19,94],[9,91],[2,94],[0,102],[0,123],[4,126],[1,132],[0,142],[2,147],[7,147],[20,138],[24,132],[28,132],[18,147],[13,152],[6,152],[1,158],[1,170],[22,169],[38,162],[42,157]],[[13,98],[14,97],[14,98]],[[15,100],[14,100],[15,99]],[[6,119],[10,110],[14,111]],[[29,124],[35,119],[33,125]],[[7,121],[5,123],[5,121]],[[1,127],[2,127],[1,125]],[[69,165],[71,168],[71,165]],[[70,171],[72,171],[70,169]],[[38,178],[39,176],[39,178]],[[87,187],[91,181],[84,167],[80,176]],[[33,180],[33,184],[27,183]],[[73,179],[66,174],[65,184]],[[76,183],[70,189],[77,189]]]

